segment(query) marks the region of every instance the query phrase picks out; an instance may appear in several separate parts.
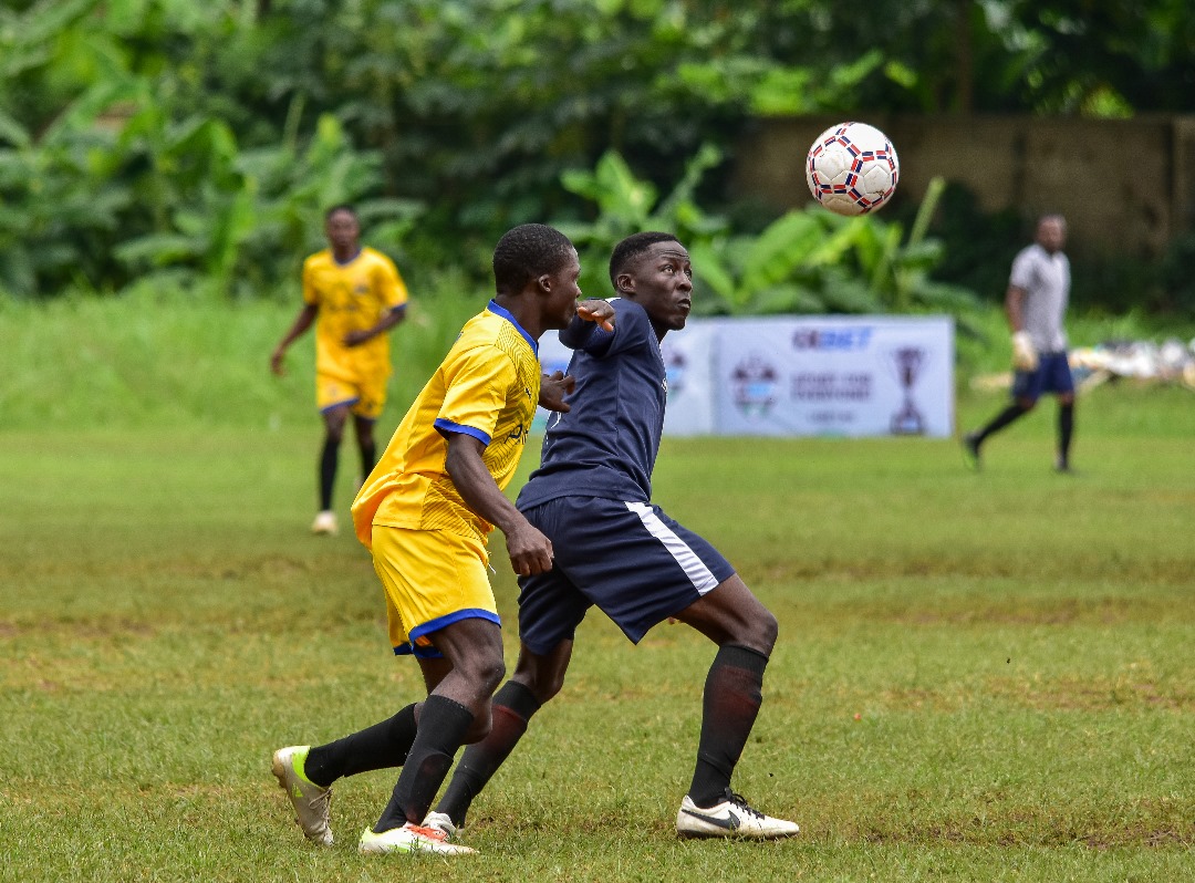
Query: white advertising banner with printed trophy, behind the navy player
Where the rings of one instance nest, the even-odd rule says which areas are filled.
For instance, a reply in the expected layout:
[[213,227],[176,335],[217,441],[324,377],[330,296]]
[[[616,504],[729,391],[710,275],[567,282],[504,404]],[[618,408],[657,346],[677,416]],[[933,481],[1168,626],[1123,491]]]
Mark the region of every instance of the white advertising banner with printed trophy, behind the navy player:
[[[945,437],[954,347],[940,315],[690,319],[661,345],[664,434]],[[540,339],[546,373],[571,355],[554,333]]]

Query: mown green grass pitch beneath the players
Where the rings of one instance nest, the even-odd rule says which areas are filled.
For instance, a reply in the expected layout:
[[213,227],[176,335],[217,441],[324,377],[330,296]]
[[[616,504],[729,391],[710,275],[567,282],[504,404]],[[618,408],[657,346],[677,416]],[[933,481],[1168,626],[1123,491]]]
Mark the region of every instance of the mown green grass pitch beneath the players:
[[[391,773],[337,785],[326,851],[269,774],[274,748],[419,693],[364,551],[306,533],[318,428],[292,392],[0,429],[0,879],[1195,878],[1190,393],[1083,398],[1073,477],[1049,470],[1049,404],[979,474],[950,441],[666,440],[657,501],[780,620],[735,784],[801,836],[675,840],[712,649],[595,617],[474,807],[482,853],[449,863],[356,853]],[[1000,401],[966,394],[962,424]]]

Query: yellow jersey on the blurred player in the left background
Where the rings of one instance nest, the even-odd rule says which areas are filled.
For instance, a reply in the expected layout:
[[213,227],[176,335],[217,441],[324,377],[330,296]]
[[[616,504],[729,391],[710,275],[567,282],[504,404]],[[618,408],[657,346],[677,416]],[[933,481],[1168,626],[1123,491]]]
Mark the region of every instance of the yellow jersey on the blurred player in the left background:
[[302,299],[315,317],[315,372],[349,382],[361,373],[390,375],[390,336],[378,335],[345,347],[350,331],[372,329],[388,311],[406,303],[406,284],[394,262],[364,247],[347,264],[331,249],[304,260]]

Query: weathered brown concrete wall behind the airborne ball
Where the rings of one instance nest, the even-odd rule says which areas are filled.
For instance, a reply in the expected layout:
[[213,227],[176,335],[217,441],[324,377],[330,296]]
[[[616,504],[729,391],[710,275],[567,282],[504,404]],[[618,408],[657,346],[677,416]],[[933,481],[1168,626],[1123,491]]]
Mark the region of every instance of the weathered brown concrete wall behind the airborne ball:
[[[920,201],[930,179],[967,185],[985,210],[1029,222],[1067,217],[1070,250],[1157,257],[1195,231],[1195,117],[1037,119],[1021,116],[860,115],[900,157],[894,200]],[[761,119],[734,157],[734,183],[777,209],[803,206],[804,157],[841,117]]]

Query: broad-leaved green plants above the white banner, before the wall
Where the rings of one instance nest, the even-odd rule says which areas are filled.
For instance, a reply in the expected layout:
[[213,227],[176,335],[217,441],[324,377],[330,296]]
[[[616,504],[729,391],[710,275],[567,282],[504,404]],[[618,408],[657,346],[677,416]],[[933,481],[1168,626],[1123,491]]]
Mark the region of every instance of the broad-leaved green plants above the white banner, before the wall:
[[557,222],[584,249],[582,287],[608,290],[603,271],[614,245],[638,231],[662,229],[676,233],[693,258],[694,309],[701,314],[963,313],[976,306],[970,292],[930,276],[943,256],[940,243],[926,235],[940,179],[931,184],[907,239],[900,222],[840,217],[816,204],[748,234],[695,201],[701,176],[719,157],[717,148],[704,147],[663,200],[614,152],[592,172],[566,172],[564,186],[598,211],[589,223]]

